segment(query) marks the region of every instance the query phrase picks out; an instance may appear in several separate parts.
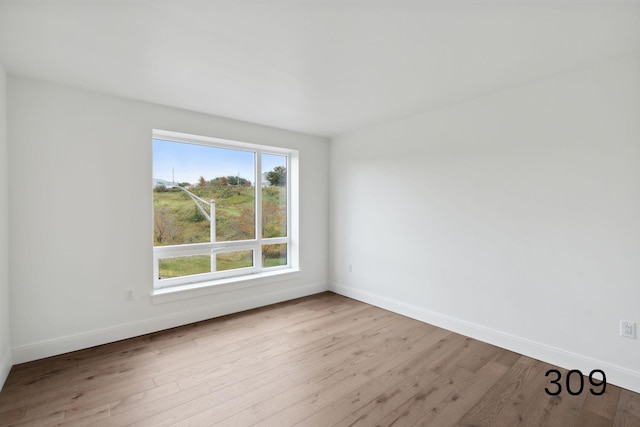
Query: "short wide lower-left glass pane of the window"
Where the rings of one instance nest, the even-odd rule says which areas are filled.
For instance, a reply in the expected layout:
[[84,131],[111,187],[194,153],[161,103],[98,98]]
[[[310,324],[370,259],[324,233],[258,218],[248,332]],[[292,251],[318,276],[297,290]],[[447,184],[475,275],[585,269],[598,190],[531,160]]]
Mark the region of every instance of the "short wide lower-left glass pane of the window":
[[211,255],[190,255],[162,258],[159,261],[160,279],[211,273],[213,271],[234,270],[253,267],[253,251],[219,252]]

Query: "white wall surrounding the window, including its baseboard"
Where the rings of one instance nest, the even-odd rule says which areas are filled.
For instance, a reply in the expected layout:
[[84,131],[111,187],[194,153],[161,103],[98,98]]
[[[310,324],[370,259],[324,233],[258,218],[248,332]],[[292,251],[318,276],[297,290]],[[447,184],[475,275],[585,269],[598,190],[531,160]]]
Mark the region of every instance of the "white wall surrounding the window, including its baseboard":
[[[16,363],[327,289],[327,140],[13,76],[8,106]],[[298,278],[151,302],[154,128],[300,150]]]

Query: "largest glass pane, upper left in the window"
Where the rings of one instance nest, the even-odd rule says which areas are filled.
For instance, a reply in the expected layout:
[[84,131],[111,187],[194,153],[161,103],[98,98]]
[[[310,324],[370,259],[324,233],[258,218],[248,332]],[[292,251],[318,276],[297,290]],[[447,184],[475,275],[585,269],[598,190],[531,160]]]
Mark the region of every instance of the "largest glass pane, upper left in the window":
[[154,246],[255,239],[254,177],[253,152],[154,139]]

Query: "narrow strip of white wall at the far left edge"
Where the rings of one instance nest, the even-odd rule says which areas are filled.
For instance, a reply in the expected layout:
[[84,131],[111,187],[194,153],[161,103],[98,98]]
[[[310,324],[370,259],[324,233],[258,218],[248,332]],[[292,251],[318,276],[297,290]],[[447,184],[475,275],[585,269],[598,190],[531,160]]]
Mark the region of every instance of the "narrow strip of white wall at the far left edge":
[[0,390],[13,363],[9,328],[9,163],[7,78],[0,66]]

